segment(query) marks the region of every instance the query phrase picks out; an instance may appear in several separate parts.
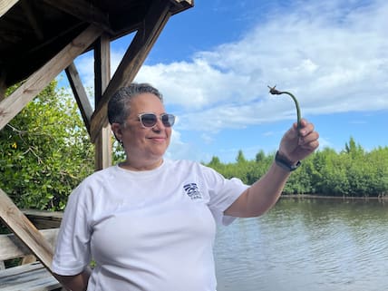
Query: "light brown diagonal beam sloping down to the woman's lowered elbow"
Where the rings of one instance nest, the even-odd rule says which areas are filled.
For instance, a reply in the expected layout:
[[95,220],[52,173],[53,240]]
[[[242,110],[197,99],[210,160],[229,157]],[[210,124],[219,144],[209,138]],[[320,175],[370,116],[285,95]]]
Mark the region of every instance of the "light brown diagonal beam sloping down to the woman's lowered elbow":
[[14,202],[0,189],[0,218],[37,257],[44,267],[50,269],[53,260],[53,248],[44,239],[34,224],[25,217]]

